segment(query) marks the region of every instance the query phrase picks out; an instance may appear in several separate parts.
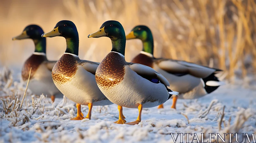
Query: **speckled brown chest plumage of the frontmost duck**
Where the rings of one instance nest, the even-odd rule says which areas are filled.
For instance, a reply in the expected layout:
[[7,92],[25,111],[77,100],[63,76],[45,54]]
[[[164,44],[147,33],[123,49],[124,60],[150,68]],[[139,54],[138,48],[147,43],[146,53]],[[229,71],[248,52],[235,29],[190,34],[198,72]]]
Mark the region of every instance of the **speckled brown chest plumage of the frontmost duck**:
[[111,88],[124,79],[124,66],[127,63],[124,57],[115,52],[110,52],[97,68],[95,79],[98,86]]

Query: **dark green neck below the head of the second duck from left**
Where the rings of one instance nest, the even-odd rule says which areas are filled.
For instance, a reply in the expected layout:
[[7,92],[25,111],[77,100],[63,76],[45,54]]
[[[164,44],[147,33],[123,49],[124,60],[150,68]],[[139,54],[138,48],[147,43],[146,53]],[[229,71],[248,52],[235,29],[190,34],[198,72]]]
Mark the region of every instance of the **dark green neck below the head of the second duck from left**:
[[79,37],[78,33],[72,37],[66,37],[67,48],[65,53],[75,54],[78,56]]

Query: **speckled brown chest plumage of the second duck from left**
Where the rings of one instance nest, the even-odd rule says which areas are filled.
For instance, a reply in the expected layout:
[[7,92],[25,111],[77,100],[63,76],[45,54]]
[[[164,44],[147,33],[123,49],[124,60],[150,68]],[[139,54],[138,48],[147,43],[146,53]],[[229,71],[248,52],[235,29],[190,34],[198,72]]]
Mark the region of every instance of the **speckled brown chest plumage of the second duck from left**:
[[70,81],[76,74],[76,70],[76,58],[69,54],[63,54],[52,69],[52,79],[55,85]]

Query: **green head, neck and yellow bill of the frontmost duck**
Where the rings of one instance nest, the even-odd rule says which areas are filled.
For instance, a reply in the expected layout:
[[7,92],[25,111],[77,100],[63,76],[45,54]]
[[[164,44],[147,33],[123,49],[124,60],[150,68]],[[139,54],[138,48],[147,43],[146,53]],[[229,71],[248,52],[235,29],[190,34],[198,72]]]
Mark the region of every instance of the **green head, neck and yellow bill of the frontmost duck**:
[[100,26],[100,29],[97,32],[88,35],[88,38],[99,38],[104,36],[111,39],[111,51],[124,55],[126,39],[124,28],[121,23],[115,20],[106,21]]

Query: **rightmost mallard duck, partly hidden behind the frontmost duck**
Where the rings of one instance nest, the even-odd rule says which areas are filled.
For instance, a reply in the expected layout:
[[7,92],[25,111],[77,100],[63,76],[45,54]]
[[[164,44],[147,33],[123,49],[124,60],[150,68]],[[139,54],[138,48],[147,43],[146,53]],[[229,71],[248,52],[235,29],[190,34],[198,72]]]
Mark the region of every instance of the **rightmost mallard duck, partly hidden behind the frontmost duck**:
[[[140,39],[143,43],[140,54],[132,59],[133,63],[147,65],[162,74],[171,84],[170,88],[180,93],[181,99],[195,99],[216,90],[223,82],[215,76],[219,69],[209,68],[199,64],[189,63],[153,56],[154,42],[147,26],[135,26],[126,35],[126,40]],[[177,96],[174,95],[172,107],[176,109]],[[163,108],[160,105],[158,108]]]

